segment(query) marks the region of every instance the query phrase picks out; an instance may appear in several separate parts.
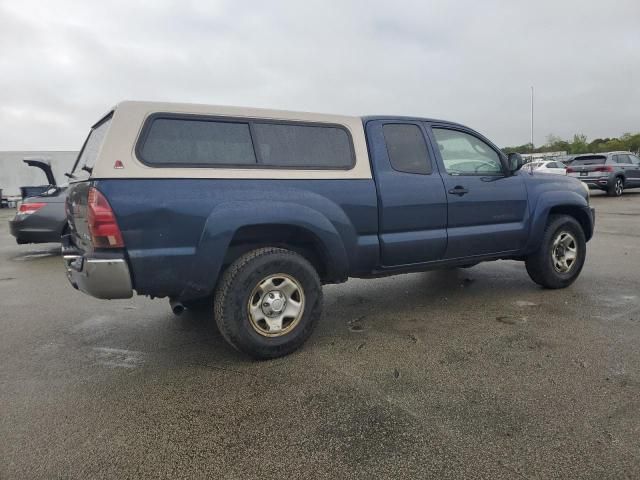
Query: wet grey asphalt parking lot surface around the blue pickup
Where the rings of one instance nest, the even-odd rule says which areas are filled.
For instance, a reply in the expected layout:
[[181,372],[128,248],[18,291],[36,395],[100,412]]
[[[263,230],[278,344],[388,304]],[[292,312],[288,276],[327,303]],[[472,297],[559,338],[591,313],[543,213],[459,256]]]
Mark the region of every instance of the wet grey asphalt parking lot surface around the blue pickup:
[[640,193],[593,194],[579,280],[351,280],[297,353],[74,291],[0,210],[0,478],[640,478]]

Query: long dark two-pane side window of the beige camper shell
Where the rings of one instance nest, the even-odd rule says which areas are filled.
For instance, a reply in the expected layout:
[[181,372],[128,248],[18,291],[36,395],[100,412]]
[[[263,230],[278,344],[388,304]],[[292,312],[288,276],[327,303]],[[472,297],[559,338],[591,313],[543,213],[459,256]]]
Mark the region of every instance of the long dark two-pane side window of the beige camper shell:
[[136,155],[151,167],[349,170],[349,131],[334,124],[158,113]]

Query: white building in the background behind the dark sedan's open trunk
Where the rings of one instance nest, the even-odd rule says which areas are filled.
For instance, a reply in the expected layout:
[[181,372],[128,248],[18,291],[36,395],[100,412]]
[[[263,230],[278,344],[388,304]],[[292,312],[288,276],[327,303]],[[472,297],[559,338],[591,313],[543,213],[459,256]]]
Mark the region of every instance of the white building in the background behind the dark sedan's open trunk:
[[70,172],[76,161],[76,151],[0,151],[0,189],[3,197],[20,195],[20,187],[46,185],[47,178],[39,168],[23,163],[25,158],[43,158],[51,162],[53,174],[59,185],[69,180],[65,172]]

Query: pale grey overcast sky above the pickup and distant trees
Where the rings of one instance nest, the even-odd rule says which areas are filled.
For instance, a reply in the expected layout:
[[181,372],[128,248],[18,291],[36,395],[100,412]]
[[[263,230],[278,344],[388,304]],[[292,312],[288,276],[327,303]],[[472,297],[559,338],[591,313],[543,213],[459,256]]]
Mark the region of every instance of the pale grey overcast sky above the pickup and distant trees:
[[0,150],[78,149],[124,99],[640,131],[640,0],[0,0]]

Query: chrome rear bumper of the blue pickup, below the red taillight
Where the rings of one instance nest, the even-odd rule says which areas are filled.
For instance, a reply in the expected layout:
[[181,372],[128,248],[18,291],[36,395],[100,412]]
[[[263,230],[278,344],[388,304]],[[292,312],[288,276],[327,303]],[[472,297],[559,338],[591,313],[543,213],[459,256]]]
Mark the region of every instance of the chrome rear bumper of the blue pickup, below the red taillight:
[[63,255],[62,258],[73,288],[102,299],[133,296],[129,267],[122,255],[101,258]]

